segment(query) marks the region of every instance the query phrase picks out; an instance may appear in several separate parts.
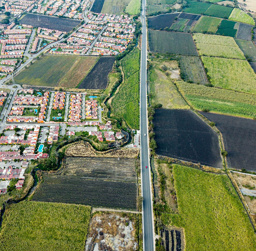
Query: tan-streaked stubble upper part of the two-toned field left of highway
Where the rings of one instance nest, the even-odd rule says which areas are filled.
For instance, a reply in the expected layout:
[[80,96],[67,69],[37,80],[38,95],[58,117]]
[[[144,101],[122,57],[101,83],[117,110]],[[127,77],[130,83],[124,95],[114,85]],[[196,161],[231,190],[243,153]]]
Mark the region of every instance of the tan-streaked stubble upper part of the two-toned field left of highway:
[[136,182],[135,160],[114,158],[77,158],[65,160],[59,174],[92,179]]

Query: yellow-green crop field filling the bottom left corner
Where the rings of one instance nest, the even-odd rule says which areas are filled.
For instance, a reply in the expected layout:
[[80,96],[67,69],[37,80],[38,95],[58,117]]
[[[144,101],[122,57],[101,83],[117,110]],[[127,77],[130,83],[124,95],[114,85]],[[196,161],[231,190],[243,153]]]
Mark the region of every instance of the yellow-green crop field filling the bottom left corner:
[[12,204],[4,212],[0,250],[83,251],[90,212],[74,204]]

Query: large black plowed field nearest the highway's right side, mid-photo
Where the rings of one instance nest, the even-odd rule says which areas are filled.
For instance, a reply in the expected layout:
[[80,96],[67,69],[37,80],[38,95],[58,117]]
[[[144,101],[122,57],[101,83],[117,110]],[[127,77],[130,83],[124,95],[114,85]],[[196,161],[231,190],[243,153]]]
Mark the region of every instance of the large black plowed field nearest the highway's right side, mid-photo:
[[156,109],[156,154],[222,167],[218,134],[191,110]]

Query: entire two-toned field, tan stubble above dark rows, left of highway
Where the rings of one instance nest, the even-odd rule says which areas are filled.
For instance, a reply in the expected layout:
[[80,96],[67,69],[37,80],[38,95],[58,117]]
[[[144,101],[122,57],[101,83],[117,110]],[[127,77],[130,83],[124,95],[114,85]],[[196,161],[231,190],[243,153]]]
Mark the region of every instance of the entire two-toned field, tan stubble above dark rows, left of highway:
[[56,173],[44,173],[33,199],[136,210],[135,159],[66,158]]

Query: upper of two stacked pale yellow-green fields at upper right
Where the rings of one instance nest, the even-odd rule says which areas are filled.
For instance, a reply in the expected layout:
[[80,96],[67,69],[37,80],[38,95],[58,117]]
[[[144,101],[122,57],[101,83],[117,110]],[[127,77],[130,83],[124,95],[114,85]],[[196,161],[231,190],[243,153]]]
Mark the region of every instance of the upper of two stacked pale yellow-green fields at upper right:
[[195,33],[196,48],[199,55],[245,59],[234,38]]

